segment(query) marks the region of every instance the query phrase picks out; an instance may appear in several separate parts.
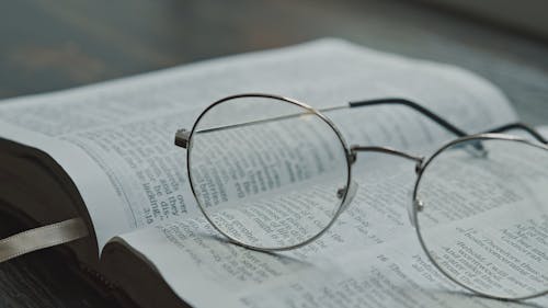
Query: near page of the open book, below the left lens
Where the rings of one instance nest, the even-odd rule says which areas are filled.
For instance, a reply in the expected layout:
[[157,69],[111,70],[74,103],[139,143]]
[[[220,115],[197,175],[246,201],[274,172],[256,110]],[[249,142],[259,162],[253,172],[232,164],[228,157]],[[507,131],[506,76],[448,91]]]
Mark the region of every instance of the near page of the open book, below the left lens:
[[[365,205],[370,203],[351,206],[359,208],[362,216],[354,216],[355,212],[343,214],[322,238],[290,252],[271,254],[240,248],[219,237],[203,219],[173,223],[122,238],[155,265],[183,300],[195,307],[548,305],[546,297],[505,303],[473,296],[435,269],[411,226],[404,220],[402,226],[388,219],[377,221],[378,216],[364,218],[364,213],[373,216],[377,212]],[[403,206],[400,210],[404,212]]]

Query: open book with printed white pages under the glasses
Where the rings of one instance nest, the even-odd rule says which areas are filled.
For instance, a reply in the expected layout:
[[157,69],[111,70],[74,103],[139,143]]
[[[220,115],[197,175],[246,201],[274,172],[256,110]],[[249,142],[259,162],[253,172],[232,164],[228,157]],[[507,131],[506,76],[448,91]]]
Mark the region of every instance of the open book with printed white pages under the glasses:
[[[393,158],[361,167],[354,202],[317,241],[272,254],[227,242],[202,216],[173,136],[246,92],[318,109],[407,98],[467,133],[516,121],[498,89],[459,68],[321,39],[2,102],[0,206],[41,225],[81,218],[89,236],[68,249],[142,307],[526,305],[471,296],[429,263],[406,212],[414,166]],[[332,119],[350,144],[431,155],[454,137],[404,106],[342,113]]]

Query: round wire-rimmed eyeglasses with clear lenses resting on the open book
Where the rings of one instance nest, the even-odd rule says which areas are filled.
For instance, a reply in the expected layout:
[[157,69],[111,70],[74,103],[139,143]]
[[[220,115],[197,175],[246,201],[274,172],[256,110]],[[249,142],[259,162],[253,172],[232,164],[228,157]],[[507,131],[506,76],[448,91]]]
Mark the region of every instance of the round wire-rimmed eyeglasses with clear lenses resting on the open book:
[[[349,147],[323,115],[379,104],[411,107],[458,138],[430,158]],[[536,140],[498,134],[510,129]],[[259,251],[300,248],[323,235],[356,194],[351,174],[358,152],[414,161],[407,209],[429,259],[460,286],[503,299],[548,290],[547,144],[521,123],[469,136],[403,99],[317,111],[270,94],[217,101],[192,130],[175,134],[175,145],[187,150],[192,192],[206,219],[230,241]]]

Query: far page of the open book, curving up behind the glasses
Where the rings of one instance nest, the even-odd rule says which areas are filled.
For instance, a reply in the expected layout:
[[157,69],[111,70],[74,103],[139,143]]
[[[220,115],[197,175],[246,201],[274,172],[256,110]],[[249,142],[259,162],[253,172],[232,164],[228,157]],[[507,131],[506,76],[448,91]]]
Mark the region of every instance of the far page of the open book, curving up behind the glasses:
[[[90,212],[99,247],[113,236],[198,213],[175,129],[241,92],[315,107],[373,98],[413,100],[469,132],[515,121],[505,98],[464,70],[323,39],[148,73],[0,106],[0,137],[44,150],[65,168]],[[406,107],[332,114],[349,142],[411,149],[450,136]]]

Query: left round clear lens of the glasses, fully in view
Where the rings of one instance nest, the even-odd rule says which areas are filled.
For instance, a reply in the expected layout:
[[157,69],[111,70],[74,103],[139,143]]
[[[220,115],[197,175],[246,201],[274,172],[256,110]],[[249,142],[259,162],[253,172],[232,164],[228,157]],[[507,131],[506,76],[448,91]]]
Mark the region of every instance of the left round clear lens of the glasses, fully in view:
[[243,95],[212,105],[196,122],[189,175],[198,205],[218,231],[262,250],[312,240],[346,196],[346,147],[310,107]]

